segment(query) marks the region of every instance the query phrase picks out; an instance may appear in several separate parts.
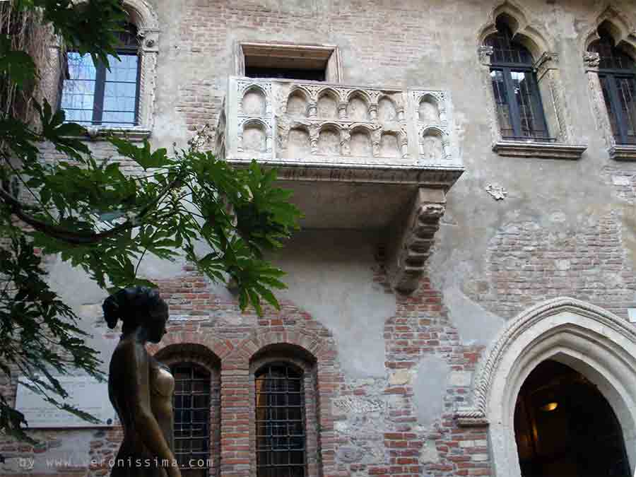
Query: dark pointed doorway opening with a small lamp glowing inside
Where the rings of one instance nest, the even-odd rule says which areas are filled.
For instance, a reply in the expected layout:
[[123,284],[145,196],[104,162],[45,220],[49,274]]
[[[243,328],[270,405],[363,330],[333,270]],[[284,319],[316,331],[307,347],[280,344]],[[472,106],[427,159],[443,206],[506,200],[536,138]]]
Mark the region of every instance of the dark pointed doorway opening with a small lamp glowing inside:
[[555,360],[526,377],[514,409],[523,477],[630,477],[623,430],[599,389]]

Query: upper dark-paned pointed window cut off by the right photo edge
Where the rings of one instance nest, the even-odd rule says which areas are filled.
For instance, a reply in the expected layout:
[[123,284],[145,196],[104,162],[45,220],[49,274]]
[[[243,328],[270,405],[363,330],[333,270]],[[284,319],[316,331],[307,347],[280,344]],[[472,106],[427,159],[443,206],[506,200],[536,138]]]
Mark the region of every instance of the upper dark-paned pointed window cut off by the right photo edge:
[[599,29],[599,36],[589,51],[598,53],[601,60],[599,80],[614,140],[618,144],[636,144],[635,61],[614,45],[606,30]]

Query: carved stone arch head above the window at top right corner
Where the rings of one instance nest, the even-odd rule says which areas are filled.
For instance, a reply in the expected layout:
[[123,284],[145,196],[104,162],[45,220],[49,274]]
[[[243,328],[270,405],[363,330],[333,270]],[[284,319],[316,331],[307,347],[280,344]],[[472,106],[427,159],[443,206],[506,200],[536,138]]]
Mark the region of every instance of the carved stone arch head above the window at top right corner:
[[584,57],[591,44],[601,39],[599,27],[603,25],[612,37],[614,45],[623,49],[636,61],[636,25],[623,11],[613,4],[606,4],[601,11],[595,13],[590,23],[591,28],[582,36],[581,53]]

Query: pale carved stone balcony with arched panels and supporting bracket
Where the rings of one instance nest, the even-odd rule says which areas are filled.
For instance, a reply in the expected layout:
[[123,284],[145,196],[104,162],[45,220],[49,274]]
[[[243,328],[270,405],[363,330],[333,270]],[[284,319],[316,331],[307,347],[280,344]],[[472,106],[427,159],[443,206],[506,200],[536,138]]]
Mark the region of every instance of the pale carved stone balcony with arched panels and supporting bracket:
[[387,233],[395,288],[416,288],[464,168],[444,91],[232,77],[216,152],[278,168],[305,228]]

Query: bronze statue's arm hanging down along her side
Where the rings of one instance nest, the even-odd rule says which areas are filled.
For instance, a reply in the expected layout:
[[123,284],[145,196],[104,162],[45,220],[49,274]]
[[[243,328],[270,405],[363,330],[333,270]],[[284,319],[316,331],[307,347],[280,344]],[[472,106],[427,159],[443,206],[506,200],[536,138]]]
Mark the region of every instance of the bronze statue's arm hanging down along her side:
[[151,408],[150,369],[146,348],[141,343],[134,343],[129,352],[133,355],[127,370],[132,373],[126,376],[126,381],[131,384],[131,392],[126,393],[126,399],[129,400],[129,409],[134,412],[135,430],[141,442],[153,455],[161,460],[167,459],[170,463],[166,468],[168,476],[180,477],[179,468],[172,465],[175,462],[174,454]]

